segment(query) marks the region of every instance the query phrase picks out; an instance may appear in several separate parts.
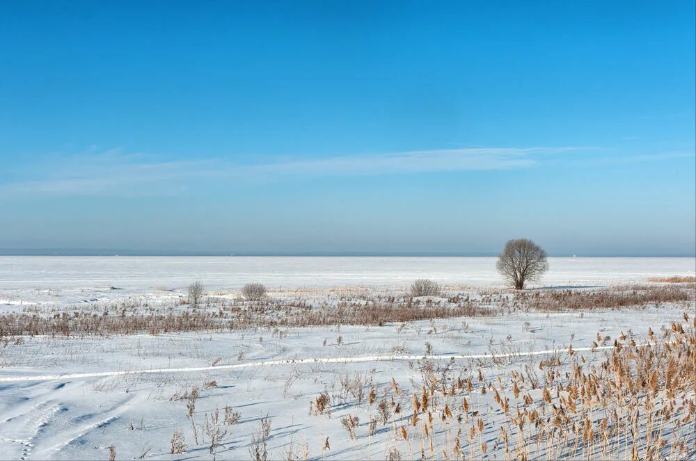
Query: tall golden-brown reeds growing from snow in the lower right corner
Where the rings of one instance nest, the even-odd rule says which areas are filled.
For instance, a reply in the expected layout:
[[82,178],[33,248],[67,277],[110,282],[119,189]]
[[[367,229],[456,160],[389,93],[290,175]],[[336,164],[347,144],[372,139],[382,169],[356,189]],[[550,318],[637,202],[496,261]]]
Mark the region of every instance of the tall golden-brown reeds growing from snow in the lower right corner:
[[650,331],[646,346],[622,335],[596,365],[571,347],[542,359],[538,380],[517,370],[489,379],[457,375],[466,369],[452,364],[429,369],[413,394],[392,380],[379,405],[370,398],[370,420],[408,459],[693,459],[695,332],[684,314],[683,323]]

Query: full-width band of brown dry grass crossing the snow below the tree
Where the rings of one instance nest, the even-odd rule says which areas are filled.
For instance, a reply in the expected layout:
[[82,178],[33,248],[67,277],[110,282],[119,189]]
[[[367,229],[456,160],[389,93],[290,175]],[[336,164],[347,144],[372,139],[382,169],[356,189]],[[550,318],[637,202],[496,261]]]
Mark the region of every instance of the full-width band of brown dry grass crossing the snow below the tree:
[[437,300],[419,300],[394,293],[373,296],[339,296],[333,302],[307,302],[302,298],[272,299],[250,305],[209,296],[205,307],[163,305],[153,307],[124,300],[113,305],[93,303],[65,307],[62,311],[25,309],[0,314],[0,339],[22,335],[106,336],[111,334],[161,334],[216,332],[248,328],[313,327],[335,325],[385,325],[438,318],[492,316],[516,309],[562,312],[616,309],[645,305],[693,305],[696,290],[683,284],[612,286],[603,289],[491,291],[449,293]]

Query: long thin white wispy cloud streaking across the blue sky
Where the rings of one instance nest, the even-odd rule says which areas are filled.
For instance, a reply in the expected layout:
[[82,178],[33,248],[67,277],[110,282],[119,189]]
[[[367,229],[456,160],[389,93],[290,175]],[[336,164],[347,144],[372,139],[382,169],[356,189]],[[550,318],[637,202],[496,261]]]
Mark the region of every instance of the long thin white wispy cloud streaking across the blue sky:
[[[262,163],[225,159],[157,161],[144,154],[102,153],[55,156],[41,168],[19,172],[21,179],[0,181],[1,195],[170,195],[196,179],[277,181],[306,177],[395,175],[530,168],[560,161],[559,154],[587,153],[588,147],[477,147],[388,154],[291,158]],[[674,154],[672,154],[674,155]],[[659,156],[640,156],[640,161]],[[622,157],[630,161],[631,157]],[[563,157],[564,161],[567,158]]]

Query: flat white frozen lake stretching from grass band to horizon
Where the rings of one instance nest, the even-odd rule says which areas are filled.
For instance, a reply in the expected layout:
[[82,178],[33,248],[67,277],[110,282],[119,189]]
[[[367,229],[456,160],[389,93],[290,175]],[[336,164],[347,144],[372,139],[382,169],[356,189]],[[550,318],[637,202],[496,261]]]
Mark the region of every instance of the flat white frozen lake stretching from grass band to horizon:
[[[696,274],[695,258],[549,258],[543,286]],[[269,286],[500,284],[494,257],[0,257],[0,289],[148,290],[200,280],[212,289]]]

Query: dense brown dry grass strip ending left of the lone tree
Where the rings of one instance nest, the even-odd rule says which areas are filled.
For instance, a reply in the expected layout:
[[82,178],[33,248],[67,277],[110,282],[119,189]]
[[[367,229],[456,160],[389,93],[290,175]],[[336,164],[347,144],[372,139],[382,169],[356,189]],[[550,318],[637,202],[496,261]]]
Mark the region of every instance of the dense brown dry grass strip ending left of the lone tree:
[[110,334],[161,334],[168,332],[230,331],[254,327],[312,327],[324,325],[384,325],[434,318],[489,316],[493,314],[473,302],[461,301],[452,305],[429,303],[376,302],[354,305],[340,303],[336,307],[308,305],[267,305],[226,307],[217,311],[184,310],[180,313],[154,314],[89,314],[63,312],[54,316],[39,314],[4,314],[0,316],[0,338],[21,335],[60,334],[63,336]]

